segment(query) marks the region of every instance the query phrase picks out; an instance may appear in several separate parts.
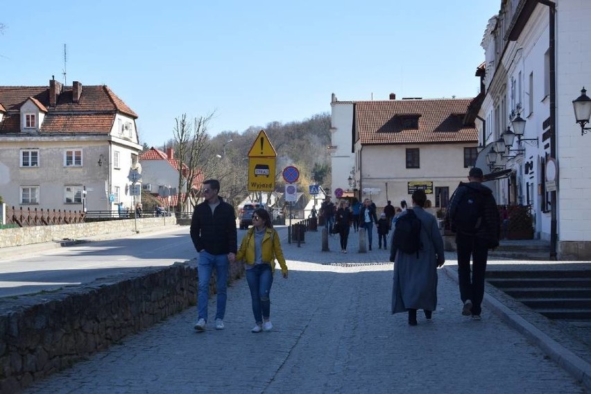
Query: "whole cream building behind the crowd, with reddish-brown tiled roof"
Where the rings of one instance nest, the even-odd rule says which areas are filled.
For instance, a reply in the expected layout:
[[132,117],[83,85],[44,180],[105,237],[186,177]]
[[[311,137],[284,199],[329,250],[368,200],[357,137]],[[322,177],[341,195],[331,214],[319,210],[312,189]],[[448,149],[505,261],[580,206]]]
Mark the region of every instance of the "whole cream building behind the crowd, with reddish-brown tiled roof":
[[378,209],[388,200],[410,205],[417,189],[431,207],[447,207],[477,158],[477,129],[467,116],[472,101],[391,94],[386,101],[340,102],[333,95],[333,186],[370,198]]

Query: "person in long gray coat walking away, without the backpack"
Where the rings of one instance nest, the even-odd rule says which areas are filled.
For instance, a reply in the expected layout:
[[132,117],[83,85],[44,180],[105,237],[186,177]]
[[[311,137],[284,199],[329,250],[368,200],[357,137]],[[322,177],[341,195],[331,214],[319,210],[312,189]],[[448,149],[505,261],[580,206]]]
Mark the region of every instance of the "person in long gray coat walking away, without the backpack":
[[[409,312],[409,325],[417,325],[417,309],[425,310],[425,317],[437,307],[437,267],[443,266],[443,238],[437,219],[426,212],[425,191],[413,193],[413,212],[421,222],[421,248],[417,253],[407,254],[397,250],[391,242],[390,261],[394,262],[394,285],[392,289],[392,313]],[[407,212],[402,212],[402,215]],[[402,217],[402,216],[401,216]]]

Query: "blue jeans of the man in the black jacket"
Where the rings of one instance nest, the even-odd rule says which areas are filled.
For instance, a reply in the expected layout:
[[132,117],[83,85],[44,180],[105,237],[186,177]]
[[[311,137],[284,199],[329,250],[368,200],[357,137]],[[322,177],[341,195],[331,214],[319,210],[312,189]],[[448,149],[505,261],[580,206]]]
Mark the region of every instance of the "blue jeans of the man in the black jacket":
[[198,288],[197,307],[198,318],[207,321],[207,302],[209,302],[209,280],[213,269],[216,269],[217,311],[216,319],[223,319],[225,315],[226,288],[228,287],[228,255],[212,255],[205,250],[199,253],[197,266]]

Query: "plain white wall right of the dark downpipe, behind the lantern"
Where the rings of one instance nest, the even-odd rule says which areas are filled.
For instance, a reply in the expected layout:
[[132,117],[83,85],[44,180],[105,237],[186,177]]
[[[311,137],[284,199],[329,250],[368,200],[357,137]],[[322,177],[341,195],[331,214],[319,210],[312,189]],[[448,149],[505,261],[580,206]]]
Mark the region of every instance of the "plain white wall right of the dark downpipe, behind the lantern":
[[581,136],[572,108],[591,91],[591,1],[560,0],[556,15],[559,241],[591,241],[591,134]]

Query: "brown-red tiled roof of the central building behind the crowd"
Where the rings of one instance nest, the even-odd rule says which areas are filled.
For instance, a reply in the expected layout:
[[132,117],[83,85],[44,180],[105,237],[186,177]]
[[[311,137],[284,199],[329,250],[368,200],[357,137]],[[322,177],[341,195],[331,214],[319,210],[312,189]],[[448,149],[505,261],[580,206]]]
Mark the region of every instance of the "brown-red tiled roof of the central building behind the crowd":
[[[472,99],[354,101],[361,144],[478,142],[474,125],[463,118]],[[418,117],[418,128],[402,126]]]

